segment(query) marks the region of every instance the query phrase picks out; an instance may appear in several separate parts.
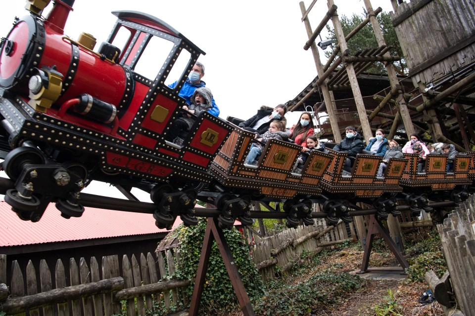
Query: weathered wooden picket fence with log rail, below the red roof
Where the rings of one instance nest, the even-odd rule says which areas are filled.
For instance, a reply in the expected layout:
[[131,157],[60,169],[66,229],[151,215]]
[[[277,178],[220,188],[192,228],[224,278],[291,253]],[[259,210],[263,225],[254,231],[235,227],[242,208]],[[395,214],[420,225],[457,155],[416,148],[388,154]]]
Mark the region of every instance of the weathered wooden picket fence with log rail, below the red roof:
[[158,255],[155,259],[150,253],[141,254],[140,260],[135,255],[131,260],[124,255],[120,270],[118,256],[102,257],[100,269],[95,257],[91,258],[89,266],[84,258],[80,259],[79,266],[71,259],[69,280],[66,280],[61,260],[57,261],[52,273],[42,260],[39,280],[38,267],[35,268],[31,261],[26,278],[18,263],[13,262],[8,296],[6,256],[0,255],[0,311],[7,315],[25,315],[28,311],[31,316],[98,316],[121,314],[124,307],[127,315],[135,316],[153,310],[154,302],[162,303],[168,310],[172,305],[186,306],[188,301],[180,295],[180,288],[189,285],[190,280],[158,281],[160,275],[173,274],[173,260],[170,255],[165,258]]

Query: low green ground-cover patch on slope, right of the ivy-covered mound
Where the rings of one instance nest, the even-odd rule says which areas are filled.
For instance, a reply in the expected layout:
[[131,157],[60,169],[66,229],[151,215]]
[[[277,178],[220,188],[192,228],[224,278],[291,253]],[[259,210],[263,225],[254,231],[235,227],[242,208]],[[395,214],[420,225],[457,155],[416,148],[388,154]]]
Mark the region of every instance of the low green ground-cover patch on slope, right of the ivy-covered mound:
[[296,284],[266,284],[266,295],[254,305],[256,315],[305,315],[319,306],[337,304],[341,296],[362,286],[364,280],[347,273],[326,270]]

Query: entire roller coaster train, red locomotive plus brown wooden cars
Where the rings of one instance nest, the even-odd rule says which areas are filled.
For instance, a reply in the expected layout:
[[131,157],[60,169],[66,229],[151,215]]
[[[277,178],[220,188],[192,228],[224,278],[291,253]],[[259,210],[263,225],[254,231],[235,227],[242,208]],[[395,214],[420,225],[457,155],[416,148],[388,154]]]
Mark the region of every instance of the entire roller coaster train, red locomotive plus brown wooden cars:
[[[0,187],[24,220],[40,220],[50,202],[64,217],[81,216],[80,192],[91,180],[149,192],[153,205],[123,207],[150,211],[159,227],[177,216],[195,224],[201,215],[196,198],[213,200],[228,227],[236,218],[250,225],[253,216],[278,216],[251,216],[251,200],[283,202],[287,225],[294,227],[311,225],[312,217],[350,222],[360,214],[358,202],[372,205],[365,214],[382,218],[399,214],[398,200],[415,213],[432,211],[432,202],[460,202],[470,191],[472,154],[458,157],[450,174],[442,155],[429,156],[423,174],[408,155],[390,160],[378,178],[378,157],[359,155],[346,176],[345,154],[315,152],[294,173],[298,146],[272,140],[253,167],[244,164],[253,134],[207,112],[195,118],[183,146],[169,143],[167,132],[185,105],[178,92],[204,52],[165,22],[135,11],[112,12],[117,22],[95,51],[91,35],[72,40],[63,34],[74,0],[55,0],[42,18],[48,2],[27,1],[30,15],[1,40],[0,157],[14,184],[1,181]],[[163,60],[144,59],[157,47]],[[143,63],[156,72],[139,74]],[[172,89],[165,82],[173,73],[179,80]],[[322,205],[320,214],[311,212],[312,203]]]

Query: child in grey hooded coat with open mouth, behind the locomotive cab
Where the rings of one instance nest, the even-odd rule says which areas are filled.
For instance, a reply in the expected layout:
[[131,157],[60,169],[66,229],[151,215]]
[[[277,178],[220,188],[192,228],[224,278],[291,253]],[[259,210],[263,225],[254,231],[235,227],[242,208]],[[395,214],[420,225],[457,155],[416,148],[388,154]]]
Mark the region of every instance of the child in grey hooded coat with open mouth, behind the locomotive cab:
[[[209,111],[213,108],[212,105],[212,98],[213,94],[211,90],[207,87],[201,87],[194,90],[193,94],[191,95],[191,104],[190,107],[183,106],[184,110],[188,110],[191,114],[198,115],[201,111]],[[191,126],[193,125],[194,118],[192,118],[189,114],[182,114],[182,117],[177,118],[174,122],[172,122],[172,126],[168,131],[168,134],[165,140],[169,142],[174,142],[178,145],[181,145],[183,139],[181,139],[180,132],[190,131]]]

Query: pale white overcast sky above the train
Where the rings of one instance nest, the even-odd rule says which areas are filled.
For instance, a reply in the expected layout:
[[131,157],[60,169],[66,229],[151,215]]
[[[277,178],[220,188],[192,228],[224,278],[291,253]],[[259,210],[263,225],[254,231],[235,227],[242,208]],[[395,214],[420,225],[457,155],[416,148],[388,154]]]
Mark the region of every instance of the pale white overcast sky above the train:
[[[293,99],[317,76],[311,50],[303,49],[308,37],[300,20],[299,2],[76,0],[65,34],[77,39],[81,32],[90,33],[100,43],[116,21],[111,11],[134,10],[156,16],[206,52],[199,58],[206,68],[203,80],[213,92],[220,117],[247,119],[262,105],[273,107]],[[339,15],[363,13],[363,0],[334,2]],[[7,36],[15,16],[28,14],[25,3],[10,0],[8,5],[2,5],[0,37]],[[308,8],[312,1],[304,3]],[[390,0],[373,0],[372,5],[392,11]],[[309,14],[313,29],[327,11],[327,1],[318,0]],[[325,34],[322,38],[325,40]],[[324,56],[321,50],[320,56]],[[290,126],[297,119],[298,114],[287,116]]]

